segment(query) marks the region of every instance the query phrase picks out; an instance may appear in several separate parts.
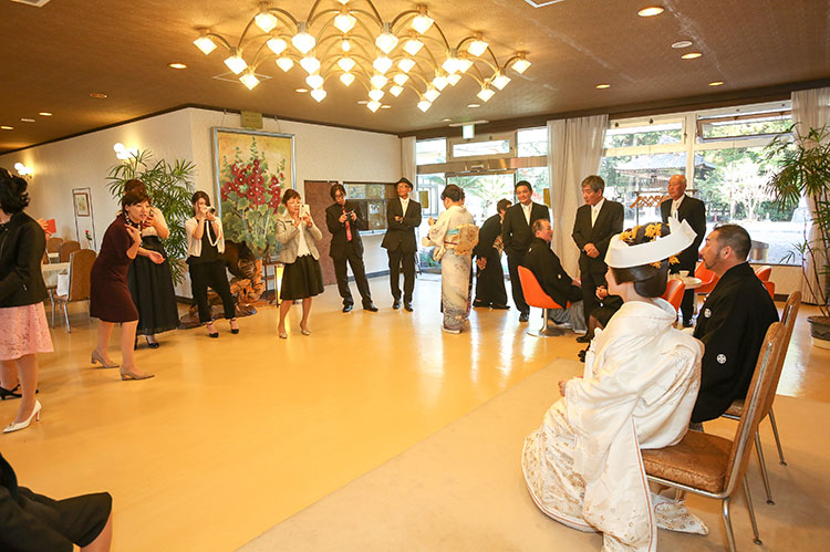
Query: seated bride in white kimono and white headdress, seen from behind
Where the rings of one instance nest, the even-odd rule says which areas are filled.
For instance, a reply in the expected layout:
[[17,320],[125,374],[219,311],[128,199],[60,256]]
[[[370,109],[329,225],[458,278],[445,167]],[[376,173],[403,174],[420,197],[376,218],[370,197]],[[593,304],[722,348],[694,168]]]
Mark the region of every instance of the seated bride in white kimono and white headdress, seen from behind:
[[[522,450],[536,504],[560,523],[602,532],[608,551],[656,550],[640,449],[683,438],[699,388],[703,345],[673,327],[677,313],[660,299],[667,259],[695,236],[685,221],[672,230],[661,237],[667,228],[654,223],[612,238],[609,292],[625,303],[591,342],[583,376],[559,383],[562,398]],[[695,523],[682,506],[674,511],[681,524]]]

